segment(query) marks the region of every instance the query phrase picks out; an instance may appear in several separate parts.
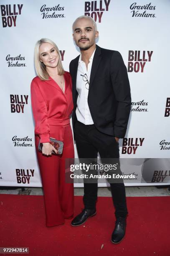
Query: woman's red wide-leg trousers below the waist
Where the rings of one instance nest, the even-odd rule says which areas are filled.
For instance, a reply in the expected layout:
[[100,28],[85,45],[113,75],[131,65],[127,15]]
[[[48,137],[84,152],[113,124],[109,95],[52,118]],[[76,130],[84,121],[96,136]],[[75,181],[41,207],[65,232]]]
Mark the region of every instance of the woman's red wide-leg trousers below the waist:
[[74,214],[74,184],[65,182],[65,159],[74,158],[74,143],[70,124],[50,125],[50,137],[63,141],[62,155],[43,156],[38,151],[40,138],[35,136],[47,227],[63,224],[64,219],[72,218]]

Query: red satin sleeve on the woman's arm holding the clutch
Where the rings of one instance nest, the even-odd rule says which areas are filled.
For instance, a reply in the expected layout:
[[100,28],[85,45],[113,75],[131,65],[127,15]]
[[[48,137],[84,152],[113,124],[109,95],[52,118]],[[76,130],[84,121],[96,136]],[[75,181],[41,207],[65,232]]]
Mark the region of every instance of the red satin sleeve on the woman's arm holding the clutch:
[[31,82],[31,105],[35,120],[35,134],[40,136],[41,143],[50,142],[47,105],[38,83],[34,79]]

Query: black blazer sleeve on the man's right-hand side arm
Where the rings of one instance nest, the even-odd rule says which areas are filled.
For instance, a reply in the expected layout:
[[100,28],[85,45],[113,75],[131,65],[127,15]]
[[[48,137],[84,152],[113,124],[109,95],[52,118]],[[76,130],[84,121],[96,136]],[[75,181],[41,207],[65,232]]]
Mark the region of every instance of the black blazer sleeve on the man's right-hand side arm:
[[118,51],[114,51],[110,67],[112,86],[117,100],[114,136],[117,138],[124,138],[131,108],[131,95],[127,68]]

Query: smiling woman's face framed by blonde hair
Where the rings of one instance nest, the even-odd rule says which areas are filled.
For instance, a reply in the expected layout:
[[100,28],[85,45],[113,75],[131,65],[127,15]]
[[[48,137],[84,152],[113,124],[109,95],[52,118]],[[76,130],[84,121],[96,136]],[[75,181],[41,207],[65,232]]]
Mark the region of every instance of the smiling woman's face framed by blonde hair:
[[55,68],[58,65],[59,56],[56,51],[56,48],[49,43],[43,43],[39,47],[39,57],[40,61],[46,67]]

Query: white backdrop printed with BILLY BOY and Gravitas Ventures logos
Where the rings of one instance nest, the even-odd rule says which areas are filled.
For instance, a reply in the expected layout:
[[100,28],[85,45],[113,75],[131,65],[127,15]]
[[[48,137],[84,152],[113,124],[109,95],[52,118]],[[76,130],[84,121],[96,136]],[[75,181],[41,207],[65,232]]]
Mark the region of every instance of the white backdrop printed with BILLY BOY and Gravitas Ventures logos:
[[119,51],[128,70],[132,108],[120,158],[139,164],[129,168],[135,182],[125,184],[170,183],[170,1],[1,0],[0,10],[0,185],[41,187],[30,101],[34,46],[52,39],[69,71],[79,55],[72,23],[80,15],[96,20],[97,44]]

